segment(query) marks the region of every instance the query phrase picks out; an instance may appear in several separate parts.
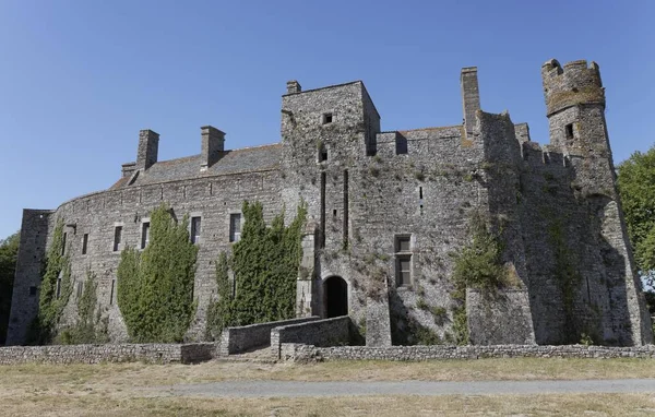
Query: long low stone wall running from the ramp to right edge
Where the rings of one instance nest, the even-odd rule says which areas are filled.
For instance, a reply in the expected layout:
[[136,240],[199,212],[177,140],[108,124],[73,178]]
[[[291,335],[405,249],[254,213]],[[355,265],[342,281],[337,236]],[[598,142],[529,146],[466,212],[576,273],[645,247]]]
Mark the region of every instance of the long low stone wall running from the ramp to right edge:
[[481,358],[655,358],[655,345],[636,347],[606,346],[334,346],[317,347],[283,343],[279,359],[286,361],[320,360],[429,360]]

